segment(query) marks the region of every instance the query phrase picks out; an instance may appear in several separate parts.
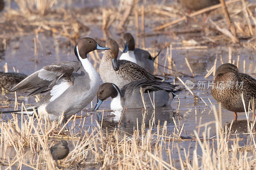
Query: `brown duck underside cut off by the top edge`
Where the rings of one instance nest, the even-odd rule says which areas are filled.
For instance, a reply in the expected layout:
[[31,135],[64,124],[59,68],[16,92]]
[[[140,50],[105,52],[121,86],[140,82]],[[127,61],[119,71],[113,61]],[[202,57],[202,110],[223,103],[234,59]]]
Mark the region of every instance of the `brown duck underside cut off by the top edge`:
[[190,10],[201,10],[203,8],[216,5],[220,0],[180,0],[181,4]]

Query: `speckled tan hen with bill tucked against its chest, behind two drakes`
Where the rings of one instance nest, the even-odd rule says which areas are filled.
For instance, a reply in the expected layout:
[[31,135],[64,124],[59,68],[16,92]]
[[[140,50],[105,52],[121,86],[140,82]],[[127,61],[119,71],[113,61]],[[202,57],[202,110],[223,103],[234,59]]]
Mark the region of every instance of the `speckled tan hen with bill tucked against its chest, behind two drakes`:
[[114,39],[109,39],[100,62],[100,77],[104,83],[114,83],[119,88],[137,80],[162,80],[148,73],[136,63],[127,60],[117,60],[119,47]]

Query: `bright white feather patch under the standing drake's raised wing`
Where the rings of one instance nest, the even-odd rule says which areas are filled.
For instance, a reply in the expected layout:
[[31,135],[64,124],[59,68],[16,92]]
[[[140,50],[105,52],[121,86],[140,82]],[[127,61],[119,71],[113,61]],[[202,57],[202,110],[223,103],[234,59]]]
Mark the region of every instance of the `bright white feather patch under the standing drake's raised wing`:
[[53,86],[52,90],[50,91],[50,95],[52,96],[50,102],[57,99],[63,92],[65,92],[65,90],[68,89],[68,87],[72,85],[72,82],[62,81],[60,84]]

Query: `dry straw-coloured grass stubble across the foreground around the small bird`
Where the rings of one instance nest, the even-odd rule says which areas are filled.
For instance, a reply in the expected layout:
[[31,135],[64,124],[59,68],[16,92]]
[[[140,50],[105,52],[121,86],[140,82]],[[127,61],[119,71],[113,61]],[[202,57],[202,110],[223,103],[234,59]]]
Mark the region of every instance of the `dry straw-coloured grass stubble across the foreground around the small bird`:
[[[173,133],[167,131],[166,121],[161,127],[158,121],[156,133],[152,133],[151,129],[146,130],[143,122],[141,130],[137,123],[137,129],[134,129],[133,134],[126,135],[116,128],[111,131],[103,130],[97,121],[97,127],[86,129],[83,123],[82,128],[77,126],[73,128],[75,122],[79,121],[76,116],[70,122],[72,128],[65,132],[58,122],[49,122],[46,117],[38,117],[36,114],[27,117],[25,112],[21,116],[12,115],[13,118],[8,122],[0,121],[1,164],[6,167],[18,165],[33,169],[55,169],[49,144],[53,144],[52,139],[64,138],[70,141],[69,147],[73,148],[61,161],[62,167],[66,168],[96,166],[102,169],[251,169],[256,163],[253,159],[256,156],[254,142],[256,119],[249,120],[247,116],[248,133],[246,134],[250,136],[252,144],[248,141],[241,146],[239,141],[242,139],[231,133],[233,122],[223,129],[221,115],[217,113],[215,106],[212,106],[212,110],[215,121],[199,124],[198,130],[194,130],[196,138],[191,139],[181,138],[185,126],[183,124],[179,128],[175,119],[173,121],[177,134],[175,129]],[[249,112],[250,110],[246,115],[249,115]],[[83,120],[80,119],[80,124]],[[212,123],[215,123],[216,136],[210,137],[211,127],[208,126]],[[204,127],[202,138],[199,137],[201,127]],[[174,141],[186,140],[196,142],[193,154],[189,153],[191,144],[189,148],[182,150],[177,144],[173,147],[173,143],[176,143]],[[8,154],[11,150],[14,150],[14,155]],[[177,154],[176,152],[178,152],[179,164],[172,158]],[[37,157],[33,161],[27,161],[28,153],[37,154]]]

